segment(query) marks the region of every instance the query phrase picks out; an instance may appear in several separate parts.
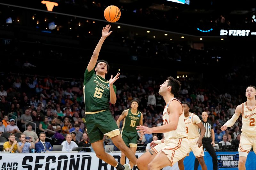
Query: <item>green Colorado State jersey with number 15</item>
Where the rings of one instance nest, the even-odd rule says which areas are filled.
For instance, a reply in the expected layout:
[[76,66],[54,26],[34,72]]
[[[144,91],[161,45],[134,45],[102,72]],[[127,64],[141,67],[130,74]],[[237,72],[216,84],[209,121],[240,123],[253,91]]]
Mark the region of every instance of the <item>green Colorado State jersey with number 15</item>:
[[[116,86],[113,85],[116,93]],[[94,70],[84,72],[85,112],[109,109],[110,90],[108,80],[95,74]],[[89,113],[90,114],[90,113]]]

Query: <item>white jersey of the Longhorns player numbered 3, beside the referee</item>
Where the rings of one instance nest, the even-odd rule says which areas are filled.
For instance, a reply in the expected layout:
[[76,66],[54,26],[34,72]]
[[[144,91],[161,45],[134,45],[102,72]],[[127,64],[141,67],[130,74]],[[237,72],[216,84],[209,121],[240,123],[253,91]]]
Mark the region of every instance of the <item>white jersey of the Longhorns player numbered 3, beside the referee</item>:
[[185,117],[185,126],[188,139],[194,139],[200,136],[197,126],[197,124],[200,122],[201,120],[194,113],[189,113],[189,116]]

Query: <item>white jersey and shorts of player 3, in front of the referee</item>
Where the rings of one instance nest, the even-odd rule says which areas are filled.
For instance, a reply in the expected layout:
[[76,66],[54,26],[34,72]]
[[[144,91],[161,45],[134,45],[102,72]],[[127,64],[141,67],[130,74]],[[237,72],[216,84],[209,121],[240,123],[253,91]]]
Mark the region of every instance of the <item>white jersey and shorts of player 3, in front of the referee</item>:
[[200,137],[198,126],[197,126],[197,124],[200,122],[201,122],[200,118],[194,113],[189,113],[188,117],[185,117],[185,126],[186,126],[186,132],[188,135],[188,141],[189,141],[189,148],[188,148],[187,155],[189,155],[189,152],[192,150],[196,158],[200,158],[204,156],[203,145],[200,148],[198,148],[198,144],[196,144],[196,142]]

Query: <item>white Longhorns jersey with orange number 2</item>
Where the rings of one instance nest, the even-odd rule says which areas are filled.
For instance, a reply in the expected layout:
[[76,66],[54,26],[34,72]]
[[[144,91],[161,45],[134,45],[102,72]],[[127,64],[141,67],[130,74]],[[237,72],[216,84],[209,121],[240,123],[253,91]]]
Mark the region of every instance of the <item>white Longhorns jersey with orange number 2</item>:
[[248,136],[256,136],[256,105],[249,109],[246,102],[242,103],[242,132]]

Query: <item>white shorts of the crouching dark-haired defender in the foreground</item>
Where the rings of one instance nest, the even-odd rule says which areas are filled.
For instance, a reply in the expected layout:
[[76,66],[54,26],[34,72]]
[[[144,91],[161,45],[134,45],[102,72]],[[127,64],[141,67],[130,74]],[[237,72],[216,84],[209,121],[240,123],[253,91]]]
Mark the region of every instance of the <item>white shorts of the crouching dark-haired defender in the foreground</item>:
[[172,166],[188,153],[188,138],[166,139],[164,143],[152,148],[156,154],[163,151],[171,162]]

